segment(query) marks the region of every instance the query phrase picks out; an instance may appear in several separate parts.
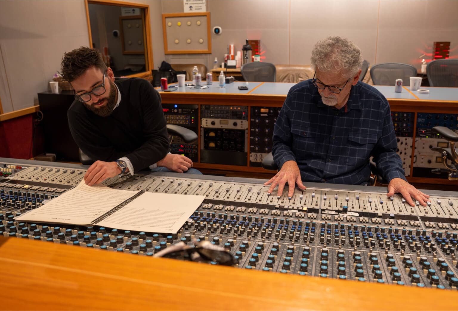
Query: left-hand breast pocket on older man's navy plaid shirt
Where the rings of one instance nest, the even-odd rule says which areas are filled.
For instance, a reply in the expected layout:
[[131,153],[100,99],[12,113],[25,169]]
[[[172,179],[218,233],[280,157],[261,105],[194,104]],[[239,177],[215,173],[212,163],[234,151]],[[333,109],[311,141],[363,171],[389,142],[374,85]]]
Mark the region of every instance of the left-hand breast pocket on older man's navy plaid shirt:
[[324,150],[316,133],[307,129],[291,128],[292,142],[291,150],[296,156],[296,161],[306,161],[320,157]]

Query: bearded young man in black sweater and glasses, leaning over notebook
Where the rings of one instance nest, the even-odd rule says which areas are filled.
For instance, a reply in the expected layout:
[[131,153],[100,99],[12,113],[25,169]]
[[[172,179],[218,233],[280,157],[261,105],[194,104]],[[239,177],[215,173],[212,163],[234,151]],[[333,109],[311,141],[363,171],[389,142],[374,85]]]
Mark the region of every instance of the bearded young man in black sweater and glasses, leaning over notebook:
[[62,77],[76,92],[67,112],[71,134],[95,161],[84,176],[89,186],[148,166],[201,174],[191,168],[191,159],[168,154],[161,97],[151,83],[139,78],[114,82],[111,68],[91,48],[65,53],[61,65]]

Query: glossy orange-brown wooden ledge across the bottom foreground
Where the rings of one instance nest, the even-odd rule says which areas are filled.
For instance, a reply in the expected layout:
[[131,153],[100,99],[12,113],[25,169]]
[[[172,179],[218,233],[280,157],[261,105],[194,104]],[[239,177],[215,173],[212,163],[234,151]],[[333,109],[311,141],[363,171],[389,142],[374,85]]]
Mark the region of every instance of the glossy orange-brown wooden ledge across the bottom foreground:
[[0,237],[3,310],[456,310],[458,293]]

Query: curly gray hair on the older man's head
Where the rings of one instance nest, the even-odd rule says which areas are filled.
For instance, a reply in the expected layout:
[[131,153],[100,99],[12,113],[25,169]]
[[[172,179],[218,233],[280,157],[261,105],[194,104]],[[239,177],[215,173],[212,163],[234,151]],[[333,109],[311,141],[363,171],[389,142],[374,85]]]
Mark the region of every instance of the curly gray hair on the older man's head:
[[346,38],[330,36],[318,41],[312,50],[310,63],[314,70],[340,72],[348,78],[361,69],[361,50]]

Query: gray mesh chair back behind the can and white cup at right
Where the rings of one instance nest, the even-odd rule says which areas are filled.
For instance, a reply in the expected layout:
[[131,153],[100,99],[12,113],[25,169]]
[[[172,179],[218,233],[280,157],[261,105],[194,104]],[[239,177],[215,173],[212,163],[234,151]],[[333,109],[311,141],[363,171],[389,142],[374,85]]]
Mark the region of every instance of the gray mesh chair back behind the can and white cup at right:
[[403,80],[403,86],[410,86],[409,77],[416,77],[414,66],[401,63],[375,64],[371,67],[371,78],[374,85],[394,86],[396,79]]

